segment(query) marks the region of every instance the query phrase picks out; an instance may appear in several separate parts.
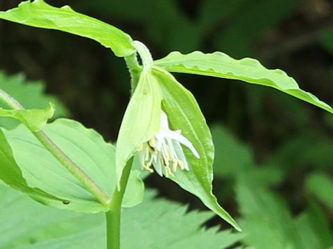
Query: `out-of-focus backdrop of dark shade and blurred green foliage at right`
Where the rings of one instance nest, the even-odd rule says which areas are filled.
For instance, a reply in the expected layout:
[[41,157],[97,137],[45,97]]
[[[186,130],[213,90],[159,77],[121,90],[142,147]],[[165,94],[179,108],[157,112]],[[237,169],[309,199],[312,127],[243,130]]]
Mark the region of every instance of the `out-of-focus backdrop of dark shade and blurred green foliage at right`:
[[[17,2],[3,0],[0,10]],[[155,58],[171,50],[255,57],[268,68],[282,68],[302,89],[332,103],[332,1],[47,2],[70,4],[125,30],[147,44]],[[116,138],[129,98],[129,76],[121,59],[80,37],[4,21],[0,37],[0,68],[43,79],[46,92],[58,95],[74,118]],[[244,245],[332,246],[332,115],[273,89],[176,76],[212,124],[215,192],[227,210],[240,217]],[[202,208],[158,176],[147,182],[170,199]]]

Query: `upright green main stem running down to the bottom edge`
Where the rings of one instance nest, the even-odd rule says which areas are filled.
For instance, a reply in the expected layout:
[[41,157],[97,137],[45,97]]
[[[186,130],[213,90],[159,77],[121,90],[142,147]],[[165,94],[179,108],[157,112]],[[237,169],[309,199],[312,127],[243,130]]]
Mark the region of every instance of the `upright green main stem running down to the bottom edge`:
[[114,190],[110,210],[105,213],[108,249],[120,248],[121,203],[123,201],[123,194],[125,194],[128,176],[130,176],[132,163],[133,158],[130,158],[126,163],[126,166],[123,168],[123,174],[119,183],[120,190],[118,190],[117,187]]

